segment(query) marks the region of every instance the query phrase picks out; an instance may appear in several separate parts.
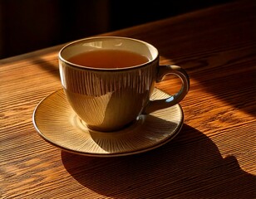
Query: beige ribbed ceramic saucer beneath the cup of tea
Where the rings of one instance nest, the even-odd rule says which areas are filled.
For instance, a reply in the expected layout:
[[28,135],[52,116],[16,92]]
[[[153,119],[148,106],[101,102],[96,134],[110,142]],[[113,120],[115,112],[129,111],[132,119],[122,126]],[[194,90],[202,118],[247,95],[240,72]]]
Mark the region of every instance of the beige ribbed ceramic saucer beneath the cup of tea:
[[[170,95],[155,89],[151,99]],[[34,110],[33,124],[48,143],[67,152],[94,157],[142,153],[169,142],[180,132],[184,114],[180,104],[138,116],[133,124],[115,132],[88,129],[66,100],[63,90],[48,95]]]

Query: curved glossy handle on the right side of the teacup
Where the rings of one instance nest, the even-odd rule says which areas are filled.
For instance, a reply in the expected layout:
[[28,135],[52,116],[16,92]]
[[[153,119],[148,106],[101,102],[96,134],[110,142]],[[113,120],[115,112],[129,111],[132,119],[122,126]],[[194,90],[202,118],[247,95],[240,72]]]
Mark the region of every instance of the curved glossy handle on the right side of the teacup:
[[145,107],[143,114],[150,114],[157,109],[165,109],[178,104],[182,99],[185,98],[185,95],[187,95],[188,91],[190,90],[190,77],[186,71],[180,66],[159,66],[155,82],[160,82],[167,74],[174,74],[180,77],[180,80],[182,81],[180,91],[167,99],[150,100]]

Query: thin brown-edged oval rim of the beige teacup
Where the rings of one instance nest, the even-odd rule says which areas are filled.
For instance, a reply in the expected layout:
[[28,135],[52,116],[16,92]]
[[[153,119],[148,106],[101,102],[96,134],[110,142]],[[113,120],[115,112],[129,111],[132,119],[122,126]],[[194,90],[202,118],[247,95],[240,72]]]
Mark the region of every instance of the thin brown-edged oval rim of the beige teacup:
[[[129,66],[129,67],[124,67],[124,68],[96,68],[96,67],[90,67],[90,66],[81,66],[81,65],[77,65],[74,64],[70,61],[67,61],[65,58],[63,58],[62,56],[62,51],[64,51],[68,46],[73,46],[76,43],[82,42],[82,41],[89,41],[89,40],[95,40],[95,39],[123,39],[123,40],[130,40],[130,41],[137,41],[140,43],[145,44],[145,46],[150,46],[151,48],[153,48],[156,52],[156,56],[154,59],[152,59],[151,61],[147,61],[143,64],[140,65],[135,65],[135,66]],[[90,36],[90,37],[86,37],[80,40],[76,40],[76,41],[71,41],[68,44],[66,44],[65,46],[62,47],[62,49],[59,51],[58,53],[58,58],[60,61],[63,61],[64,63],[66,63],[67,66],[70,67],[75,67],[78,69],[87,69],[87,70],[104,70],[104,71],[113,71],[113,70],[130,70],[130,69],[135,69],[135,68],[139,68],[139,67],[143,67],[143,66],[148,66],[150,63],[156,61],[159,59],[159,51],[157,50],[157,48],[153,45],[151,45],[150,43],[146,42],[146,41],[141,41],[135,38],[130,38],[130,37],[125,37],[125,36]]]

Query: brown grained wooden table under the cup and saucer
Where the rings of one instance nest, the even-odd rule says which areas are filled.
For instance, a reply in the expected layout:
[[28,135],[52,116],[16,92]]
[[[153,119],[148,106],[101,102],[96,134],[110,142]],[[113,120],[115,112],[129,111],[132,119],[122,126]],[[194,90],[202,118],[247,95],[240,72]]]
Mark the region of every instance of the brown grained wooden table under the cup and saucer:
[[132,156],[67,153],[34,129],[33,109],[62,88],[62,46],[2,60],[1,198],[256,198],[255,11],[233,2],[104,34],[148,41],[190,75],[181,132]]

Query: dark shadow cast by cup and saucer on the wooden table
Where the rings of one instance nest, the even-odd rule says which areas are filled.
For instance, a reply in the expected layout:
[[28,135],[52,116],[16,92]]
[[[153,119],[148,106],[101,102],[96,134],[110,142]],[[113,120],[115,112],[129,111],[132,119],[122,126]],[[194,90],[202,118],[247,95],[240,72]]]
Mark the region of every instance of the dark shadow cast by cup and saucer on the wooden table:
[[62,151],[62,163],[77,182],[106,197],[256,197],[256,177],[186,124],[170,143],[147,153],[92,158]]

